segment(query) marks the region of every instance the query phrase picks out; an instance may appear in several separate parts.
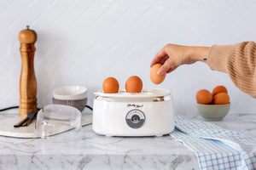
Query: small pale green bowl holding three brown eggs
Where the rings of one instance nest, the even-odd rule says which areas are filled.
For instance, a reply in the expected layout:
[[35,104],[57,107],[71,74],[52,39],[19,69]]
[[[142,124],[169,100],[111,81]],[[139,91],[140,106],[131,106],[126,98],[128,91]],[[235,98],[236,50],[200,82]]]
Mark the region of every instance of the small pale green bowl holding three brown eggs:
[[230,104],[226,105],[202,105],[198,104],[197,110],[207,121],[221,121],[230,111]]

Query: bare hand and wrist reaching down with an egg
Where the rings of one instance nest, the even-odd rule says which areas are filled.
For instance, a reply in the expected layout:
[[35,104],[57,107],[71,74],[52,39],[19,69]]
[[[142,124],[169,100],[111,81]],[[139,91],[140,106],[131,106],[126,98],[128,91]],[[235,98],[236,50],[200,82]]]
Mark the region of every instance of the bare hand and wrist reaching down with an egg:
[[179,65],[190,65],[196,61],[204,61],[207,58],[209,48],[207,47],[189,47],[175,44],[167,44],[157,54],[151,62],[150,67],[160,63],[157,74],[163,75],[177,69]]

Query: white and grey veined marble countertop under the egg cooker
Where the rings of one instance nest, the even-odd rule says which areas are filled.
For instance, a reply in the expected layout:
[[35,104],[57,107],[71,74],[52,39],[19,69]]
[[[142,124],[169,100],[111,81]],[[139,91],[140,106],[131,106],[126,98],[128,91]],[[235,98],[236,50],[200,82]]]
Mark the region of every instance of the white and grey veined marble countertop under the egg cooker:
[[[0,118],[17,116],[4,114]],[[201,119],[201,116],[190,116]],[[202,119],[201,119],[202,120]],[[256,115],[229,114],[220,127],[256,136]],[[83,139],[53,142],[0,136],[0,169],[198,169],[194,152],[171,136],[112,137],[83,127]]]

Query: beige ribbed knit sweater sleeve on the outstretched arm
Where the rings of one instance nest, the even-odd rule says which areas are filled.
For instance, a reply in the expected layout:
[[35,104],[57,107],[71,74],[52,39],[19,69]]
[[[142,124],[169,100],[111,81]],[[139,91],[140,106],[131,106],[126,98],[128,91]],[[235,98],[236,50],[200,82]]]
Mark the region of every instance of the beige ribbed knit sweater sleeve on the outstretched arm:
[[207,64],[213,71],[229,74],[237,88],[256,98],[256,43],[213,45]]

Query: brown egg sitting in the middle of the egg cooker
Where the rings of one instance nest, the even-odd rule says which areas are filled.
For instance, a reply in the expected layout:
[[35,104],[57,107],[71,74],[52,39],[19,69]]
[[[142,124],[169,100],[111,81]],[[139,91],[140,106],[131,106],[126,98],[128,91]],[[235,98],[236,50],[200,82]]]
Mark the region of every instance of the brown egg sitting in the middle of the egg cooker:
[[143,81],[140,77],[129,77],[125,82],[125,89],[127,93],[141,93],[143,89]]

